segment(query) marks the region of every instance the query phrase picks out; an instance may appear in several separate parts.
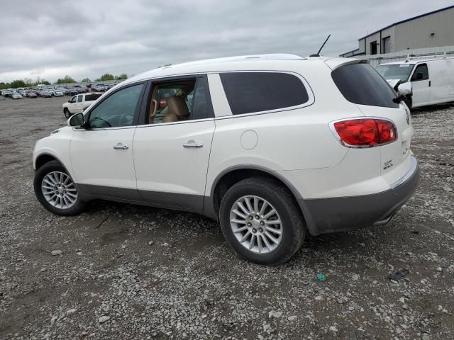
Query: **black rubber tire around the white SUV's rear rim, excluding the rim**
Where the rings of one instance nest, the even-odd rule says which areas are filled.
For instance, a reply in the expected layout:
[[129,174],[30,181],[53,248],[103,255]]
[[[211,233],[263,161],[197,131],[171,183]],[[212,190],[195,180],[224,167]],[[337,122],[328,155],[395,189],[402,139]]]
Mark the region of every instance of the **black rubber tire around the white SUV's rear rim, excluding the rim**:
[[[282,222],[282,239],[276,249],[258,254],[243,246],[231,227],[231,209],[243,196],[258,196],[267,200],[277,211]],[[306,235],[301,210],[294,203],[292,194],[278,181],[267,177],[252,177],[233,185],[221,200],[219,210],[221,229],[228,244],[243,258],[263,266],[276,266],[289,260],[303,244]]]

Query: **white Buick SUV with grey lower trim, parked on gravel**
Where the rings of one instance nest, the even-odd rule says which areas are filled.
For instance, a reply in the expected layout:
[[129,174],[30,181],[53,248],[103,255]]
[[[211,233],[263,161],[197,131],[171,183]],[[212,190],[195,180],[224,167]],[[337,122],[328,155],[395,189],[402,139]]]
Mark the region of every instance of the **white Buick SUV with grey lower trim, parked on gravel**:
[[94,198],[199,212],[246,259],[282,263],[306,233],[387,223],[410,198],[419,167],[400,99],[362,60],[154,69],[36,143],[35,194],[57,215]]

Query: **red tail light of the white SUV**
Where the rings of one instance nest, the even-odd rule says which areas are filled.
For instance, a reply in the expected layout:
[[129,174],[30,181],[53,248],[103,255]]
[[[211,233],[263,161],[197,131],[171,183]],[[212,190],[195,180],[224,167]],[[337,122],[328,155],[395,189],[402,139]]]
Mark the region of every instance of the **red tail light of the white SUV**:
[[331,124],[342,145],[346,147],[376,147],[397,140],[397,130],[389,120],[358,118]]

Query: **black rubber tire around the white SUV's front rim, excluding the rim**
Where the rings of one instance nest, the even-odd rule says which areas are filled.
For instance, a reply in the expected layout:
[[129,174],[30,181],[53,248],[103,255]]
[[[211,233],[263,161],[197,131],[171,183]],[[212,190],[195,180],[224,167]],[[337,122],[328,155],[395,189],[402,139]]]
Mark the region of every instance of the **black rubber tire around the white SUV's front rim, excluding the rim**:
[[56,208],[50,203],[48,203],[48,201],[45,199],[43,191],[41,190],[41,183],[43,182],[44,177],[52,171],[60,171],[63,174],[67,174],[67,176],[70,176],[70,174],[67,173],[65,167],[62,166],[60,162],[51,161],[44,164],[38,169],[38,171],[35,172],[35,179],[33,180],[33,188],[35,189],[36,198],[38,198],[39,202],[41,203],[41,205],[43,205],[44,208],[46,208],[50,212],[53,212],[55,215],[62,216],[79,215],[79,213],[84,210],[86,204],[84,203],[84,201],[82,201],[79,194],[77,195],[74,205],[66,209]]

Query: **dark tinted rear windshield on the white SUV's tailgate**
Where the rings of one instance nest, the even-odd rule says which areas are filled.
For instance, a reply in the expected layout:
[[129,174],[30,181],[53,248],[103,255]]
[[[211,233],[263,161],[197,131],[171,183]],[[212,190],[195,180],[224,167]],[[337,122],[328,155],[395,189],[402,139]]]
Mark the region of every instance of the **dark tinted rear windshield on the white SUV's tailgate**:
[[351,103],[399,108],[391,86],[369,64],[350,64],[331,73],[341,94]]

